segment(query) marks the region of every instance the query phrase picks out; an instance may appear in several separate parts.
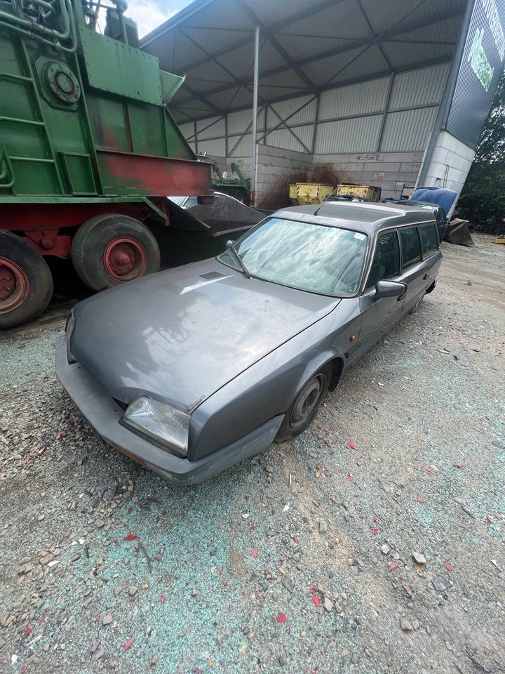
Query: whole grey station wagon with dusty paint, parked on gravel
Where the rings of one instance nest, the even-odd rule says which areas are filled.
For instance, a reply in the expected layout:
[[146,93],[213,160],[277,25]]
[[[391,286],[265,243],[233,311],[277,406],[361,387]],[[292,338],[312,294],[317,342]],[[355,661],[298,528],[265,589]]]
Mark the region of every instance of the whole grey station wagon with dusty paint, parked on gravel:
[[56,371],[113,447],[194,484],[301,433],[344,371],[436,286],[433,214],[328,201],[217,258],[76,305]]

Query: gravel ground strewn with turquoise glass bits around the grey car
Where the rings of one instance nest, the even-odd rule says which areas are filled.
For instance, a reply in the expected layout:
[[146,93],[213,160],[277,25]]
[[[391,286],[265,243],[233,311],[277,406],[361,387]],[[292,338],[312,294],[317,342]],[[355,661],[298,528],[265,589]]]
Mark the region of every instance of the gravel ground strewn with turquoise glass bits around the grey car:
[[436,291],[295,442],[174,487],[0,342],[0,671],[505,672],[505,246]]

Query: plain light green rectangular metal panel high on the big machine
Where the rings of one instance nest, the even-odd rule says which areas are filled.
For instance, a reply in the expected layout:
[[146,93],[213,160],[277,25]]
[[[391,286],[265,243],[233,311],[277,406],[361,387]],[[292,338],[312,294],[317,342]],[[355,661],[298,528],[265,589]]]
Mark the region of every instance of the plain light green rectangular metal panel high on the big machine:
[[81,42],[89,85],[144,103],[161,105],[156,56],[81,26]]

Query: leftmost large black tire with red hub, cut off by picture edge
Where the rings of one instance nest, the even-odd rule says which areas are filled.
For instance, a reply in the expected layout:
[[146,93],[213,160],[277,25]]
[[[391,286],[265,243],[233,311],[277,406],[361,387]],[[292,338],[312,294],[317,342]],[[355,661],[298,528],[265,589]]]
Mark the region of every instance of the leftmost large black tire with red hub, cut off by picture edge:
[[0,231],[0,293],[0,330],[38,318],[53,295],[46,260],[20,237],[5,231]]

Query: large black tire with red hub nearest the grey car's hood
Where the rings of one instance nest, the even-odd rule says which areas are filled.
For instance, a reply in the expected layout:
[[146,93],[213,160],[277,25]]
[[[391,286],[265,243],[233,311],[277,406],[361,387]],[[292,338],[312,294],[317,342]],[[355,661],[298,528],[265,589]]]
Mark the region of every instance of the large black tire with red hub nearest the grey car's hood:
[[[123,267],[112,264],[111,251],[121,246],[129,257]],[[72,241],[72,263],[88,288],[105,290],[159,271],[160,249],[153,234],[139,220],[107,213],[90,218],[79,227]]]

